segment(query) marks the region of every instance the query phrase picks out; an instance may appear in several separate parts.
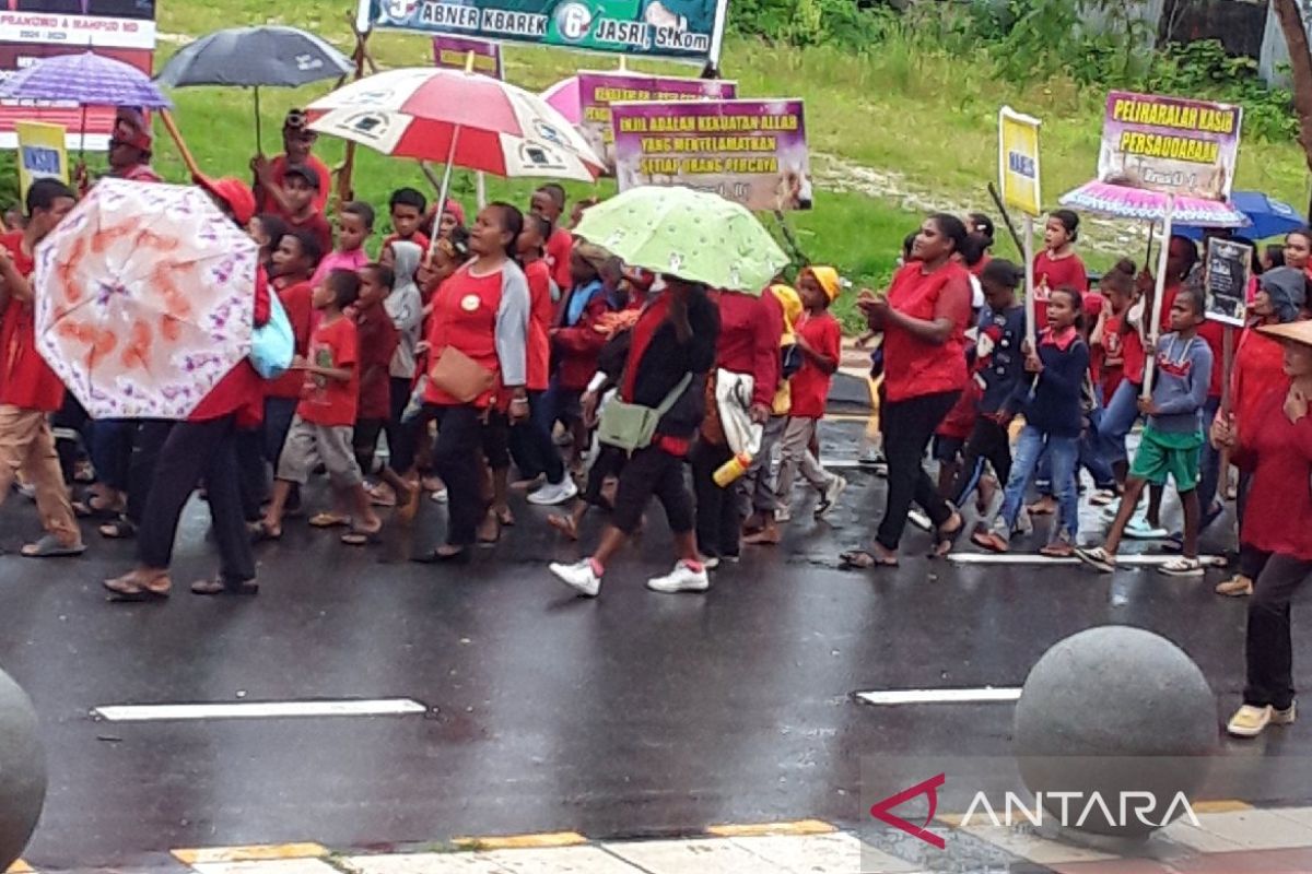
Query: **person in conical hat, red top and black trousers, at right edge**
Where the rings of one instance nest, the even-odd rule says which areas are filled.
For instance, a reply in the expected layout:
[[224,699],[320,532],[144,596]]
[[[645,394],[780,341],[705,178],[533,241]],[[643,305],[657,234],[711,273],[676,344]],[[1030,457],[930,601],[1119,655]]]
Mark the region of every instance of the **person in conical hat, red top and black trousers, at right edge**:
[[1312,578],[1312,322],[1263,325],[1258,332],[1284,347],[1283,392],[1269,392],[1249,422],[1212,425],[1212,440],[1229,448],[1253,477],[1241,537],[1271,553],[1248,605],[1244,705],[1228,730],[1256,738],[1267,725],[1295,718],[1290,601]]

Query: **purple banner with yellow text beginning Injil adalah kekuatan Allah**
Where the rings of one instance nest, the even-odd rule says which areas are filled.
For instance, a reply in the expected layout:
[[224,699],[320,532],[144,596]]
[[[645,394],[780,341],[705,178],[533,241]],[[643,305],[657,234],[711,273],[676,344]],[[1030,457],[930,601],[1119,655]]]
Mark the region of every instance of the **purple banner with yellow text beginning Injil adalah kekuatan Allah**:
[[752,210],[810,210],[800,100],[613,104],[619,190],[684,185]]

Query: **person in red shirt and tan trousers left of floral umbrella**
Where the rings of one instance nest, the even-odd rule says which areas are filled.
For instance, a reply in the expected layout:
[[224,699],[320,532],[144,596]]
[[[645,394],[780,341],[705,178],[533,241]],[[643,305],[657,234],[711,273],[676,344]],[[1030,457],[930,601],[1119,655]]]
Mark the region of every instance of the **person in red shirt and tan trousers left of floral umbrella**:
[[64,402],[64,387],[37,351],[31,284],[35,245],[73,208],[72,189],[56,180],[38,180],[28,189],[28,227],[0,236],[0,347],[7,367],[0,371],[0,503],[13,478],[37,491],[37,510],[46,529],[22,554],[29,558],[79,556],[87,548],[64,487],[49,414]]

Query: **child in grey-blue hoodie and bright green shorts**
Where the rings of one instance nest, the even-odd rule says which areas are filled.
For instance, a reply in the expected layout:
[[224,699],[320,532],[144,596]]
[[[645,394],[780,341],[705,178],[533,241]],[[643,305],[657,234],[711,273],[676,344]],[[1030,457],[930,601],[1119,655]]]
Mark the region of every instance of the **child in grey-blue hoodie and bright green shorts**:
[[1166,477],[1176,480],[1176,491],[1185,511],[1183,549],[1158,570],[1170,577],[1202,577],[1198,561],[1198,531],[1202,510],[1198,502],[1199,449],[1203,446],[1200,411],[1207,402],[1212,376],[1212,350],[1198,335],[1204,316],[1203,292],[1186,286],[1170,305],[1170,329],[1157,341],[1157,373],[1151,398],[1139,400],[1139,411],[1148,417],[1139,449],[1135,452],[1126,480],[1126,495],[1117,519],[1107,532],[1106,544],[1078,549],[1076,554],[1088,565],[1111,573],[1117,567],[1117,549],[1126,525],[1139,503],[1144,486],[1165,486]]

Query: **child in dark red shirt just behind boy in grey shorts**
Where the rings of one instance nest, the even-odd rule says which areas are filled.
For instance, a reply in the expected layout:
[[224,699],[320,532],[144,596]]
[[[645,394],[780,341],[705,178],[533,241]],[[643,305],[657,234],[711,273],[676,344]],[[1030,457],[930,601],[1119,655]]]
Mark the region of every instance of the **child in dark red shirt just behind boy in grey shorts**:
[[[391,364],[400,334],[383,307],[396,283],[391,267],[380,263],[365,265],[359,270],[359,300],[356,301],[356,337],[359,343],[359,405],[356,409],[354,449],[356,463],[367,476],[374,469],[374,451],[378,435],[387,426],[392,406]],[[379,472],[392,487],[395,503],[409,503],[409,484],[390,466]],[[362,535],[346,535],[346,542],[359,541]],[[358,542],[356,545],[359,545]]]

